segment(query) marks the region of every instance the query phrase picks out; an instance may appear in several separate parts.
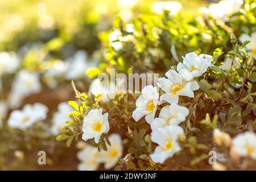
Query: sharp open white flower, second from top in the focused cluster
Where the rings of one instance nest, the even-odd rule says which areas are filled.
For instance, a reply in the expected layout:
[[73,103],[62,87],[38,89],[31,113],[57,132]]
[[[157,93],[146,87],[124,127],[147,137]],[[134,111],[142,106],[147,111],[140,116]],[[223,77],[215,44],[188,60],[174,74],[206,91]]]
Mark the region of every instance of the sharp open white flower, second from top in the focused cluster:
[[164,94],[160,96],[160,103],[166,101],[170,104],[177,104],[179,96],[194,97],[194,90],[199,89],[196,81],[185,81],[184,77],[174,70],[166,72],[168,78],[161,77],[158,79],[158,86],[164,90]]

